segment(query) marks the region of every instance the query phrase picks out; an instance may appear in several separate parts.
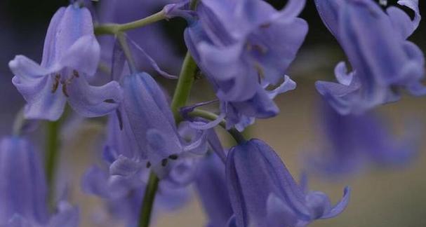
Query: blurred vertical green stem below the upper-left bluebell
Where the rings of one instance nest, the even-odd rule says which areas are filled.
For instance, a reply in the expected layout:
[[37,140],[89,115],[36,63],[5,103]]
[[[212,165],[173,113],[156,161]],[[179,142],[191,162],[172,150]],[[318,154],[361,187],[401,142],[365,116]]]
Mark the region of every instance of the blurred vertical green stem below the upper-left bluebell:
[[59,129],[60,121],[49,121],[47,123],[45,170],[48,185],[48,204],[54,207],[55,200],[55,170],[59,158]]

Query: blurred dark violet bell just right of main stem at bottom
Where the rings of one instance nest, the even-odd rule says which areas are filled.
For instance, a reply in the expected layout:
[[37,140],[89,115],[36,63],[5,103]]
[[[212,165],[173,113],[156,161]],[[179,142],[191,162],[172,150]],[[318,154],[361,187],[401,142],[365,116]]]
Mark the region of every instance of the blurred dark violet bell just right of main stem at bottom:
[[208,227],[227,226],[234,212],[225,181],[225,165],[211,153],[199,165],[195,185],[208,216]]

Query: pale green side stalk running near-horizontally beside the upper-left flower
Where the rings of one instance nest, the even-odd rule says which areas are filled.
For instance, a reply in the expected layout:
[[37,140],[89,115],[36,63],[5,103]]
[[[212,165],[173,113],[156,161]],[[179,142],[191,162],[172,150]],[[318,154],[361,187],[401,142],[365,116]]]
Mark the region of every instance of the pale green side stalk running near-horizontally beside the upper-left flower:
[[154,22],[158,22],[164,19],[167,19],[166,13],[164,13],[164,11],[159,11],[158,13],[149,15],[146,18],[135,20],[133,22],[128,22],[126,24],[110,23],[110,24],[95,26],[95,34],[96,35],[119,34],[119,32],[126,32],[128,30],[136,29],[138,27],[144,27],[146,25],[150,25]]

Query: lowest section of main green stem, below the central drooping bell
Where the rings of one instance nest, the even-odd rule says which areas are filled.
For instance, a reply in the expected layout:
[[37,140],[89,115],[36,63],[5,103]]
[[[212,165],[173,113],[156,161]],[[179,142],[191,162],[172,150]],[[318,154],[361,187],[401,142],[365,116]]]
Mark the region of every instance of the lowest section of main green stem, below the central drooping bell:
[[148,227],[151,220],[152,207],[154,205],[155,194],[159,186],[159,178],[151,172],[149,181],[145,189],[145,195],[142,201],[142,209],[140,209],[139,227]]

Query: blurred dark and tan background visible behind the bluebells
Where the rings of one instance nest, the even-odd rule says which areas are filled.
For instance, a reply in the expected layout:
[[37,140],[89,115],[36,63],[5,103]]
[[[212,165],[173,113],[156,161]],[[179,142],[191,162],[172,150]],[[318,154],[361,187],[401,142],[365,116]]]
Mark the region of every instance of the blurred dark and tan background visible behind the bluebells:
[[[109,0],[100,0],[98,5],[105,1]],[[121,4],[126,4],[126,1],[128,0],[122,0]],[[269,2],[277,8],[286,3],[279,0]],[[388,2],[395,4],[396,1]],[[22,54],[40,62],[48,22],[60,6],[67,4],[66,0],[0,2],[1,136],[10,134],[11,122],[24,104],[24,100],[11,83],[13,75],[8,70],[8,61],[15,55]],[[420,0],[420,9],[423,15],[426,15],[425,1]],[[279,116],[257,121],[248,132],[252,137],[264,139],[279,152],[296,179],[305,169],[304,157],[323,143],[319,126],[319,97],[314,82],[319,79],[333,80],[335,64],[345,60],[338,43],[322,24],[312,0],[307,1],[305,11],[300,17],[309,23],[309,34],[288,72],[298,83],[298,88],[277,97],[276,102],[281,109]],[[182,39],[185,21],[161,22],[159,27],[161,36],[165,36],[173,46],[173,53],[182,56],[186,51]],[[149,32],[149,28],[146,31]],[[426,51],[426,22],[420,23],[419,29],[410,39]],[[178,71],[173,68],[170,70]],[[165,88],[173,90],[175,82],[160,81]],[[208,88],[208,84],[203,78],[196,81],[192,102],[211,98],[204,92],[205,88]],[[377,111],[382,118],[387,119],[387,126],[395,135],[404,133],[407,122],[415,122],[422,129],[422,138],[426,138],[426,97],[404,96],[401,102],[380,106]],[[98,158],[102,123],[79,121],[75,125],[67,125],[66,130],[77,133],[62,139],[61,165],[68,170],[63,172],[68,172],[65,178],[69,179],[70,198],[74,204],[81,207],[81,226],[92,226],[90,220],[93,218],[93,209],[101,203],[98,198],[82,193],[79,185],[81,174],[97,162],[95,159]],[[39,132],[34,136],[34,143],[42,151],[44,129],[41,128]],[[227,141],[225,137],[224,141]],[[357,174],[335,179],[308,172],[309,188],[328,193],[333,202],[340,199],[344,186],[352,187],[351,202],[343,214],[335,219],[317,221],[312,226],[426,226],[425,139],[422,139],[421,143],[418,156],[404,166],[370,166]],[[202,207],[194,196],[182,209],[159,213],[153,226],[203,226],[205,221]]]

